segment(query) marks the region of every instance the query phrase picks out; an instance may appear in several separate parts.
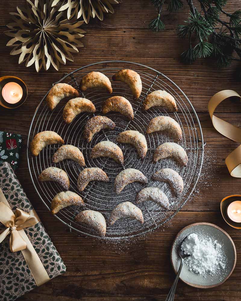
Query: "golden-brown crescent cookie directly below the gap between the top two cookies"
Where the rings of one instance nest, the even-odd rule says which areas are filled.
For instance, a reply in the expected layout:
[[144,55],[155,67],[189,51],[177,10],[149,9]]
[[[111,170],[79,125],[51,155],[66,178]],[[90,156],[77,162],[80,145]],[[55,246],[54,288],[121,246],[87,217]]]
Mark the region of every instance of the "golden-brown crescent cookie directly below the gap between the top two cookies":
[[130,104],[130,101],[128,101],[126,98],[122,96],[113,96],[103,102],[102,104],[103,114],[106,114],[111,111],[119,112],[131,120],[133,120],[134,118],[133,108],[132,105]]

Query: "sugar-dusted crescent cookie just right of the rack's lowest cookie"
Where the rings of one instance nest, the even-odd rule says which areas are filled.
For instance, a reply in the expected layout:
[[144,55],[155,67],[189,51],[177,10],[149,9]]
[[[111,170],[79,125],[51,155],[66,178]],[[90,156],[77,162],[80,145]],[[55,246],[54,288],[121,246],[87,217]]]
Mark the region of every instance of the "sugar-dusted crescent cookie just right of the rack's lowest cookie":
[[118,219],[123,218],[136,219],[138,222],[141,223],[144,222],[141,209],[136,207],[136,205],[134,205],[131,202],[124,202],[118,204],[111,212],[109,222],[111,225],[113,225]]

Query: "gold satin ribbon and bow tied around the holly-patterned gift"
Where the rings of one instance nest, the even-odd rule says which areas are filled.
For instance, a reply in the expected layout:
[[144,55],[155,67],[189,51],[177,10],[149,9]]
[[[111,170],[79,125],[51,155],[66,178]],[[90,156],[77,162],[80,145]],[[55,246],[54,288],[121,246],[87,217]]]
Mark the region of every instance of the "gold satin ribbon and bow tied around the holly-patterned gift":
[[10,250],[11,252],[21,251],[23,253],[37,286],[49,281],[48,273],[23,230],[40,222],[36,211],[33,209],[27,213],[17,208],[14,214],[0,188],[0,222],[6,227],[0,234],[0,243],[8,234],[11,234]]

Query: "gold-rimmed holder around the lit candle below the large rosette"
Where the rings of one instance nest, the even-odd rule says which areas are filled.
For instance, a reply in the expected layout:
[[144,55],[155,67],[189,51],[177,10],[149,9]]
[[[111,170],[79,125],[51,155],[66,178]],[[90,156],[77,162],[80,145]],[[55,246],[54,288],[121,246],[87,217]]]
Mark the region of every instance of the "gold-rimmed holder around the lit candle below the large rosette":
[[[13,103],[13,104],[5,101],[5,99],[2,95],[3,88],[5,87],[6,84],[8,84],[10,82],[17,83],[18,85],[20,85],[20,87],[23,90],[23,95],[22,95],[21,99],[19,101],[17,101],[16,103]],[[0,105],[2,107],[5,107],[7,109],[15,109],[17,107],[20,107],[25,102],[25,100],[27,99],[27,96],[28,96],[28,89],[27,89],[27,86],[26,86],[25,82],[23,82],[22,79],[20,79],[16,76],[3,76],[3,77],[0,77]]]

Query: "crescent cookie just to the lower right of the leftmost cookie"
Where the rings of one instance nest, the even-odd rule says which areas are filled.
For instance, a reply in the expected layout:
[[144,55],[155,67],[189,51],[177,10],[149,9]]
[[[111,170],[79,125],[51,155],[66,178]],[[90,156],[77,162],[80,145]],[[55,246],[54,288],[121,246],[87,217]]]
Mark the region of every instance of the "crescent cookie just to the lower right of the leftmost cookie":
[[73,160],[79,163],[80,166],[85,166],[85,159],[83,154],[78,149],[78,147],[75,147],[74,145],[70,145],[70,144],[62,145],[61,147],[58,148],[58,150],[55,152],[53,156],[54,163],[58,163],[65,159]]

